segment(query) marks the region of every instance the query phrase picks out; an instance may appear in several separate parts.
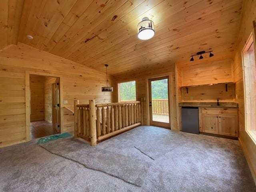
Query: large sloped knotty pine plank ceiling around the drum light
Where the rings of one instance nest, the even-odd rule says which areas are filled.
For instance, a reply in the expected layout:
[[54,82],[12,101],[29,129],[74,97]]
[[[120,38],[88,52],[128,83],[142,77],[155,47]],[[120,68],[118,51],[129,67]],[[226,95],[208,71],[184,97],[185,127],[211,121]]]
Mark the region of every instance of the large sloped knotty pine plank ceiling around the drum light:
[[[182,65],[200,50],[232,58],[241,8],[242,0],[25,0],[18,41],[120,75]],[[156,28],[146,41],[137,37],[144,17]]]

